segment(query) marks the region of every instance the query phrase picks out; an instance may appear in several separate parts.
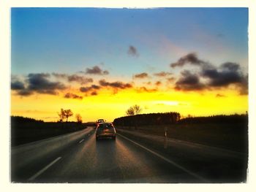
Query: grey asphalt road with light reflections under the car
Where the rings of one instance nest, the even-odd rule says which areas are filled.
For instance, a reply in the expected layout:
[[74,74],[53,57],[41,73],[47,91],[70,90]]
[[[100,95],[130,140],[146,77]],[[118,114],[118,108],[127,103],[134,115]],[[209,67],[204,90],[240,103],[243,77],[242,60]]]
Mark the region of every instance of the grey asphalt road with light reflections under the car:
[[[94,129],[86,128],[74,138],[68,145],[53,147],[42,155],[37,155],[45,152],[41,142],[13,149],[12,182],[211,183],[170,156],[165,157],[121,134],[116,141],[96,142]],[[31,147],[36,145],[42,151]],[[47,145],[53,146],[53,143]],[[28,160],[34,155],[37,158]]]

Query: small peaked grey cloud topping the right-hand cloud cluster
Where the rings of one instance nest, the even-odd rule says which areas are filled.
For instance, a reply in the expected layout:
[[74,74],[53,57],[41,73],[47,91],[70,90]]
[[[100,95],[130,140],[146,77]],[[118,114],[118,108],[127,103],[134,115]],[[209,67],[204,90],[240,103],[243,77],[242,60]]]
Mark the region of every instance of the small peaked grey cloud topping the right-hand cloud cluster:
[[170,64],[170,66],[174,68],[176,66],[184,66],[185,64],[200,66],[202,64],[207,64],[207,63],[206,61],[202,61],[199,58],[197,58],[197,55],[195,53],[189,53],[184,57],[179,58],[176,63]]

